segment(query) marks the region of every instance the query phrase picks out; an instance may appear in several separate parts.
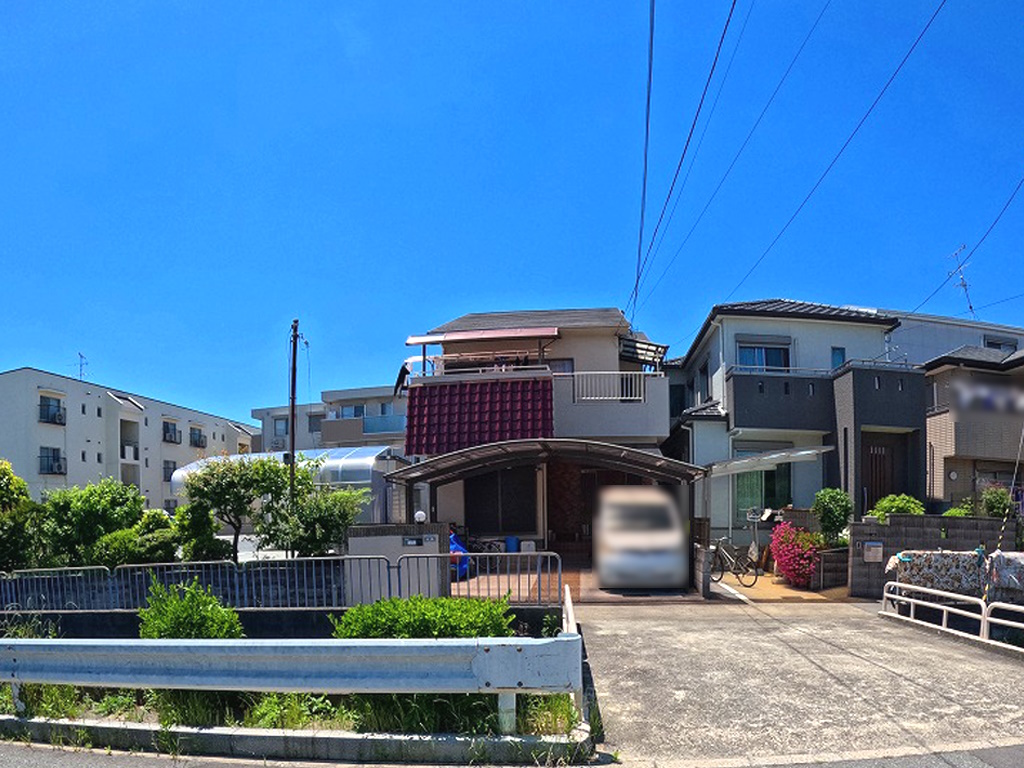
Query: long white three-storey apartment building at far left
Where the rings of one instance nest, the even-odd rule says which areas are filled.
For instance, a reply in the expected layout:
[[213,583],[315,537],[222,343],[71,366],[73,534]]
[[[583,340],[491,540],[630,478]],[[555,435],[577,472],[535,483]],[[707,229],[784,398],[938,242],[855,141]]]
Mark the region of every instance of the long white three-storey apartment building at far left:
[[171,475],[197,459],[252,450],[255,427],[34,368],[0,373],[0,457],[33,498],[116,477],[171,510]]

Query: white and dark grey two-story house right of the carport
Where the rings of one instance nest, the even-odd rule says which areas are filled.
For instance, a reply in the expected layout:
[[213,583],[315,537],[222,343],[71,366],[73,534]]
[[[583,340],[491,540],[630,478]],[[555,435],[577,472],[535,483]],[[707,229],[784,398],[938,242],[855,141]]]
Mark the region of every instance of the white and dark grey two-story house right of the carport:
[[716,305],[666,365],[663,450],[709,468],[694,507],[716,535],[765,508],[809,507],[824,486],[847,490],[858,515],[888,494],[924,499],[921,364],[965,343],[1005,355],[1024,329],[788,299]]

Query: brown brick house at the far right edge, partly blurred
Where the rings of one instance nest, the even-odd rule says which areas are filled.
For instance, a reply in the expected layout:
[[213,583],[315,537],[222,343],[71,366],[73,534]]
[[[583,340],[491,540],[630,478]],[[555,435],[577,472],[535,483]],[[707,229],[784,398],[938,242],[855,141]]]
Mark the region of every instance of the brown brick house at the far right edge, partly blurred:
[[1024,472],[1024,349],[963,346],[925,364],[928,397],[928,498],[948,507],[989,485],[1013,487]]

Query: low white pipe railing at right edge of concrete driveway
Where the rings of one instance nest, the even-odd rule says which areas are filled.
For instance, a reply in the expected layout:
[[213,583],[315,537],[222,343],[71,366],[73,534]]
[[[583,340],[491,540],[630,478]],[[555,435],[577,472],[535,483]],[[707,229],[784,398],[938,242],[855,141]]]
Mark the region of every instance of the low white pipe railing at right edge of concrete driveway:
[[[912,594],[924,595],[929,599],[912,597]],[[938,602],[939,600],[945,602]],[[975,609],[958,607],[956,603],[971,605]],[[900,606],[907,606],[907,615],[900,611]],[[923,606],[930,610],[937,610],[941,614],[941,624],[918,618],[918,606]],[[1024,648],[1000,640],[992,639],[992,627],[1005,627],[1024,632],[1024,605],[1014,605],[1013,603],[993,602],[986,603],[983,598],[973,595],[962,595],[956,592],[944,592],[942,590],[931,589],[930,587],[919,587],[914,584],[904,584],[903,582],[889,582],[886,584],[882,595],[882,610],[885,615],[909,622],[930,629],[940,629],[952,635],[981,639],[984,642],[995,643],[1000,647],[1013,648],[1024,653]],[[1016,613],[1021,616],[1020,621],[995,615],[996,612]],[[949,626],[949,616],[965,616],[972,622],[978,623],[978,633],[965,632],[953,629]]]

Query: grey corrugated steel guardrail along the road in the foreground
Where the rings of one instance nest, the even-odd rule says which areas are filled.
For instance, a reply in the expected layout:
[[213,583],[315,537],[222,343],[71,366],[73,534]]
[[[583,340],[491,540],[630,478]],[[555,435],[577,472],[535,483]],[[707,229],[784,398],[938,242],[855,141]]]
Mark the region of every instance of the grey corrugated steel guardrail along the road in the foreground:
[[25,683],[304,693],[495,693],[515,732],[517,693],[583,691],[580,635],[440,640],[0,641],[14,705]]

